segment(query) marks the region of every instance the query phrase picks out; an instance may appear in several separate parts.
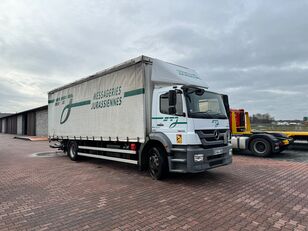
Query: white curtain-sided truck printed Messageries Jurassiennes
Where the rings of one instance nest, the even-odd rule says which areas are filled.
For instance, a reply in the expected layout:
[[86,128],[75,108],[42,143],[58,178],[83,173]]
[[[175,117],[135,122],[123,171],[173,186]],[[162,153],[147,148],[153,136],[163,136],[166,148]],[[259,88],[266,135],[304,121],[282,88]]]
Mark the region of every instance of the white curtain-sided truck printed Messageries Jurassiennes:
[[195,70],[140,56],[50,91],[48,138],[160,180],[232,162],[228,105]]

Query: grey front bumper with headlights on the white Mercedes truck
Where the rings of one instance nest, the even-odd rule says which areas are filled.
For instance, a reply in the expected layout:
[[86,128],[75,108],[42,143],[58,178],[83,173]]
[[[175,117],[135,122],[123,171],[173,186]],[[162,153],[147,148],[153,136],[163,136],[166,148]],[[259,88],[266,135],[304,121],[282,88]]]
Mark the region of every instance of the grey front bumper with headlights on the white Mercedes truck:
[[[204,149],[202,146],[177,146],[168,156],[170,172],[204,172],[232,163],[232,145]],[[194,155],[202,154],[203,161],[195,162]]]

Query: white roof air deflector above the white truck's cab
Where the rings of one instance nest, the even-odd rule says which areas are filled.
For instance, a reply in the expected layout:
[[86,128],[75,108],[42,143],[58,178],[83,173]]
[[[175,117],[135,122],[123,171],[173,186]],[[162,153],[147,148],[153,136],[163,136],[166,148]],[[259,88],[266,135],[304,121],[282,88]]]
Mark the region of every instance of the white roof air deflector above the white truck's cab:
[[193,69],[153,59],[152,81],[160,83],[195,85],[208,88],[205,80]]

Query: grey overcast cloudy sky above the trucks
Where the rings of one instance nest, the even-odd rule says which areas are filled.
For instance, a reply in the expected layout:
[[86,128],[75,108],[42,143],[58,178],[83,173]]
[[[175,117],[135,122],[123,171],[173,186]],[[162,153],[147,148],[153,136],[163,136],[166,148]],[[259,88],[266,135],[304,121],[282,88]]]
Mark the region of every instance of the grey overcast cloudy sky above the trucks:
[[308,2],[0,1],[0,112],[141,54],[195,69],[233,108],[308,116]]

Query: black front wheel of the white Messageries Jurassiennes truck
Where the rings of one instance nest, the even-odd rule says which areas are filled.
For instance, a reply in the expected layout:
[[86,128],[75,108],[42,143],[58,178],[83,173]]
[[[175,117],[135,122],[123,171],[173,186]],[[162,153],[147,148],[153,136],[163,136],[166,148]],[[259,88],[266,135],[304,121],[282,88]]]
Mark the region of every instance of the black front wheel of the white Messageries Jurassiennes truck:
[[148,150],[148,170],[154,180],[162,180],[168,174],[166,152],[161,147],[150,147]]

